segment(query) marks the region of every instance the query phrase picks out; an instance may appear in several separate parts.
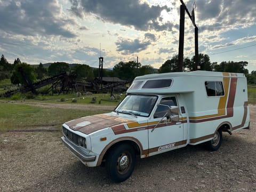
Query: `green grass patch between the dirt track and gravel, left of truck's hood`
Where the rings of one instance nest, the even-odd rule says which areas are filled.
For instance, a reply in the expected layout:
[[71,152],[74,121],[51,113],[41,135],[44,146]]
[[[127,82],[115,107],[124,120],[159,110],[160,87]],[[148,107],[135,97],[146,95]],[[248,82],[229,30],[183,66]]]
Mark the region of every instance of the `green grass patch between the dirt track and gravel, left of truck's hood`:
[[13,129],[30,129],[33,126],[45,124],[54,124],[55,127],[61,127],[61,124],[71,119],[106,112],[0,103],[0,132]]

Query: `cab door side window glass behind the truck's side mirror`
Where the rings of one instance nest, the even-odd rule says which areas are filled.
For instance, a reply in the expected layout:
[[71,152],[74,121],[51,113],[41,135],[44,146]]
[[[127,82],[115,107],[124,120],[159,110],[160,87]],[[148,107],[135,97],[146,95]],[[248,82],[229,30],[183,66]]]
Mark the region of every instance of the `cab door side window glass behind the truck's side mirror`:
[[[169,107],[177,107],[177,101],[175,97],[166,97],[163,98],[159,104],[162,105],[158,105],[155,114],[154,114],[154,118],[162,118],[167,111],[169,111]],[[169,107],[167,107],[169,106]],[[177,115],[177,114],[175,114]],[[179,115],[179,114],[178,114]]]

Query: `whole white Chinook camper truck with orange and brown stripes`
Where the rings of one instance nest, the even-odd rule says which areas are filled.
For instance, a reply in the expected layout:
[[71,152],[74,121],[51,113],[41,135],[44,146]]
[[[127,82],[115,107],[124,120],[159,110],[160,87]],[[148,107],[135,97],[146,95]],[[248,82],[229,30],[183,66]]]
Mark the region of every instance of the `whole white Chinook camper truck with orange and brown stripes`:
[[103,162],[109,177],[130,177],[141,158],[205,143],[217,150],[222,132],[249,129],[244,74],[194,71],[136,77],[107,114],[62,126],[63,143],[86,166]]

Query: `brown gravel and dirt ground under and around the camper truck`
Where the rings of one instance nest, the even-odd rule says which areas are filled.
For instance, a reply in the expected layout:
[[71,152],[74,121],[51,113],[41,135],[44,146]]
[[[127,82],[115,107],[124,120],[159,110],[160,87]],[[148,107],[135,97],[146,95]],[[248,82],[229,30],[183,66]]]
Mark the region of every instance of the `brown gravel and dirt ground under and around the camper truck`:
[[218,151],[187,146],[138,158],[122,183],[111,182],[104,167],[79,162],[60,132],[2,133],[0,191],[256,191],[256,106],[250,113],[251,129],[223,133]]

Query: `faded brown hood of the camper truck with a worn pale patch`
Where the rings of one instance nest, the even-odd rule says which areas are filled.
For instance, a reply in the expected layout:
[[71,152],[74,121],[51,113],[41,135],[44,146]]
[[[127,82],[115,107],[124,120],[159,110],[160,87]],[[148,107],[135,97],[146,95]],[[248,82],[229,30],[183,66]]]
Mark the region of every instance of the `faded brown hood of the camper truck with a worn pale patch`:
[[78,118],[65,123],[75,131],[80,131],[85,134],[90,134],[92,132],[104,129],[106,127],[111,127],[114,125],[132,122],[129,119],[124,119],[116,116],[111,116],[107,114],[92,115],[87,117]]

